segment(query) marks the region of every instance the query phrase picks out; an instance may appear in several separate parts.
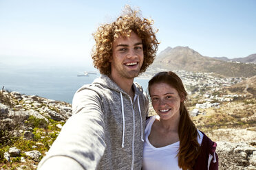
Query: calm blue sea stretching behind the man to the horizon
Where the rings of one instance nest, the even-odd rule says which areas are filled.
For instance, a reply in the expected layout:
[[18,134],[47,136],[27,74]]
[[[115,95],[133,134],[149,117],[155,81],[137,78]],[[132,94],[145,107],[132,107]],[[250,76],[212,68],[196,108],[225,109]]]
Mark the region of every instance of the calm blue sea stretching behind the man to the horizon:
[[[83,75],[83,72],[96,74]],[[74,93],[83,84],[91,84],[100,73],[92,66],[49,66],[49,65],[1,65],[0,88],[17,91],[24,95],[37,95],[47,99],[65,101],[72,104]],[[149,80],[137,77],[144,90]]]

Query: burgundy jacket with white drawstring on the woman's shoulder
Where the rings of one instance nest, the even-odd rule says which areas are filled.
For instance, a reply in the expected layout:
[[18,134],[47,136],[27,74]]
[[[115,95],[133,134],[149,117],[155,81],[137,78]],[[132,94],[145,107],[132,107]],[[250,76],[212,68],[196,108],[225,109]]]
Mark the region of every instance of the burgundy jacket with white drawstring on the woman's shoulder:
[[200,147],[200,155],[195,161],[193,170],[218,170],[219,162],[215,152],[216,147],[217,144],[204,134]]

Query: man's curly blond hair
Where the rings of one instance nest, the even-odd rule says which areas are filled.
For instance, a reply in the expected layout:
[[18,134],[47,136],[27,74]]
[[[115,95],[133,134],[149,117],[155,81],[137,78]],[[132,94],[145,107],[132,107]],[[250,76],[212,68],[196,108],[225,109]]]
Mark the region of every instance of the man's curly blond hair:
[[96,45],[92,49],[92,59],[94,67],[101,74],[110,75],[112,57],[112,44],[118,37],[129,37],[131,32],[135,32],[142,39],[144,61],[140,73],[146,71],[147,67],[153,63],[158,50],[159,42],[156,39],[156,32],[153,30],[153,20],[141,19],[139,10],[132,10],[129,5],[125,6],[123,14],[113,23],[107,23],[98,27],[93,34]]

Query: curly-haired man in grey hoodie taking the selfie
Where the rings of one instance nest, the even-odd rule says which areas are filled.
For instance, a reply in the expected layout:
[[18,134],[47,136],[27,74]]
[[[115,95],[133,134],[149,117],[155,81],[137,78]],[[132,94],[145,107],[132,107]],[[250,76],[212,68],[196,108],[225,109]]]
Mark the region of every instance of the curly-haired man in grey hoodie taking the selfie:
[[152,21],[127,7],[94,34],[94,66],[102,74],[74,95],[73,115],[39,169],[141,169],[148,101],[134,77],[153,62]]

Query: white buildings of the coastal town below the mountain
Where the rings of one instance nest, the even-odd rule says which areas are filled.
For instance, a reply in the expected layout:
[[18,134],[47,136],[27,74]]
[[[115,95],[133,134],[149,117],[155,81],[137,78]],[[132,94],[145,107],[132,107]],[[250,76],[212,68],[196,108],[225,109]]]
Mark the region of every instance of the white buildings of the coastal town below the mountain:
[[[149,69],[143,73],[140,78],[150,78],[160,71],[166,69]],[[179,75],[189,94],[189,100],[193,100],[191,107],[191,116],[205,114],[202,109],[220,108],[220,104],[224,101],[233,101],[235,97],[246,97],[241,94],[227,94],[222,91],[223,87],[232,86],[244,79],[242,77],[222,77],[215,73],[199,73],[189,71],[173,71]],[[201,111],[200,111],[201,110]]]

